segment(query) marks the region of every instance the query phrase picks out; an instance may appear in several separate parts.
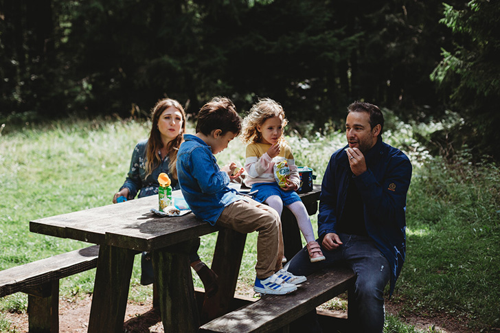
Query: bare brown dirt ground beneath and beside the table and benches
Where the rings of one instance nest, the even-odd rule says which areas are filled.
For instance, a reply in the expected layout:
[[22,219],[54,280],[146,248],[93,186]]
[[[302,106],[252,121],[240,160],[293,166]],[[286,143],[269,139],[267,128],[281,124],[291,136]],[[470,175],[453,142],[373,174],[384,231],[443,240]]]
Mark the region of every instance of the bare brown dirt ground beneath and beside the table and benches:
[[[240,290],[243,291],[243,290]],[[242,292],[245,296],[251,292]],[[91,296],[74,299],[61,299],[59,302],[59,332],[82,333],[87,332],[91,308]],[[386,310],[390,314],[398,315],[401,306],[398,303],[386,302]],[[340,313],[341,314],[341,313]],[[5,318],[12,324],[11,330],[28,332],[26,313],[5,313]],[[418,330],[443,333],[471,333],[466,323],[449,316],[417,317],[405,315],[400,318],[415,326]],[[159,312],[152,310],[152,300],[144,303],[129,302],[125,314],[124,332],[126,333],[164,333]]]

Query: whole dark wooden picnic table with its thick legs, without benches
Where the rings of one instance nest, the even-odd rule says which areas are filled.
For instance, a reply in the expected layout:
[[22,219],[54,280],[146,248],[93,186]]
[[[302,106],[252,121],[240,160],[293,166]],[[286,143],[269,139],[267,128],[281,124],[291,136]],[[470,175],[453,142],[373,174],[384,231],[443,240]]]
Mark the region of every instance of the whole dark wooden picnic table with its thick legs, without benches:
[[[309,214],[317,210],[319,193],[315,185],[312,192],[300,194]],[[140,251],[152,254],[165,332],[197,332],[201,322],[229,312],[246,235],[212,227],[192,213],[161,218],[150,212],[157,206],[157,196],[149,196],[30,222],[34,233],[100,244],[88,332],[122,332],[133,260]],[[297,222],[291,221],[289,211],[284,211],[282,220],[284,234],[294,233],[285,237],[285,249],[298,251],[302,243]],[[205,297],[200,315],[189,252],[196,238],[214,231],[218,238],[212,269],[219,276],[220,288],[214,297]]]

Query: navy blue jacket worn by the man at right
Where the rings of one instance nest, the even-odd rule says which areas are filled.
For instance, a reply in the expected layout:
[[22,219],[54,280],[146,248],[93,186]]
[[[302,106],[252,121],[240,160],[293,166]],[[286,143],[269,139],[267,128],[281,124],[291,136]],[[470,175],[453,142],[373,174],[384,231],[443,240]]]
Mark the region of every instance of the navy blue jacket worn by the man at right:
[[318,237],[322,241],[326,233],[337,233],[335,225],[342,216],[352,177],[363,198],[366,231],[391,267],[391,295],[405,262],[405,211],[411,163],[403,152],[384,143],[379,136],[375,146],[365,154],[368,170],[354,176],[344,151],[346,147],[332,154],[323,176]]

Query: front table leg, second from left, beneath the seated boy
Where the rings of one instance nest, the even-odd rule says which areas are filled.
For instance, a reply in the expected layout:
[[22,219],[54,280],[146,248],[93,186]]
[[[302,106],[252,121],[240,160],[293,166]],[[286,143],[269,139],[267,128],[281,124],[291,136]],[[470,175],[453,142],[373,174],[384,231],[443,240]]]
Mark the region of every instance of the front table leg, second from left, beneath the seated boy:
[[200,326],[189,257],[192,242],[151,253],[165,332],[198,332]]

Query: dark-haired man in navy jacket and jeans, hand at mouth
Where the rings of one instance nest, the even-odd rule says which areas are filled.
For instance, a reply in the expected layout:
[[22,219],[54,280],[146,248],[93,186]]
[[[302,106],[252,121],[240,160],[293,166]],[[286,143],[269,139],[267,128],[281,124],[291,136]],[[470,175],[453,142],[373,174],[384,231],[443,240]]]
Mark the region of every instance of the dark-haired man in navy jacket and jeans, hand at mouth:
[[[411,163],[380,136],[384,118],[370,103],[348,107],[348,146],[332,154],[321,183],[318,242],[326,260],[311,264],[302,249],[288,264],[295,275],[335,264],[356,273],[353,332],[382,332],[389,295],[405,261],[405,208]],[[352,318],[351,318],[352,319]]]

